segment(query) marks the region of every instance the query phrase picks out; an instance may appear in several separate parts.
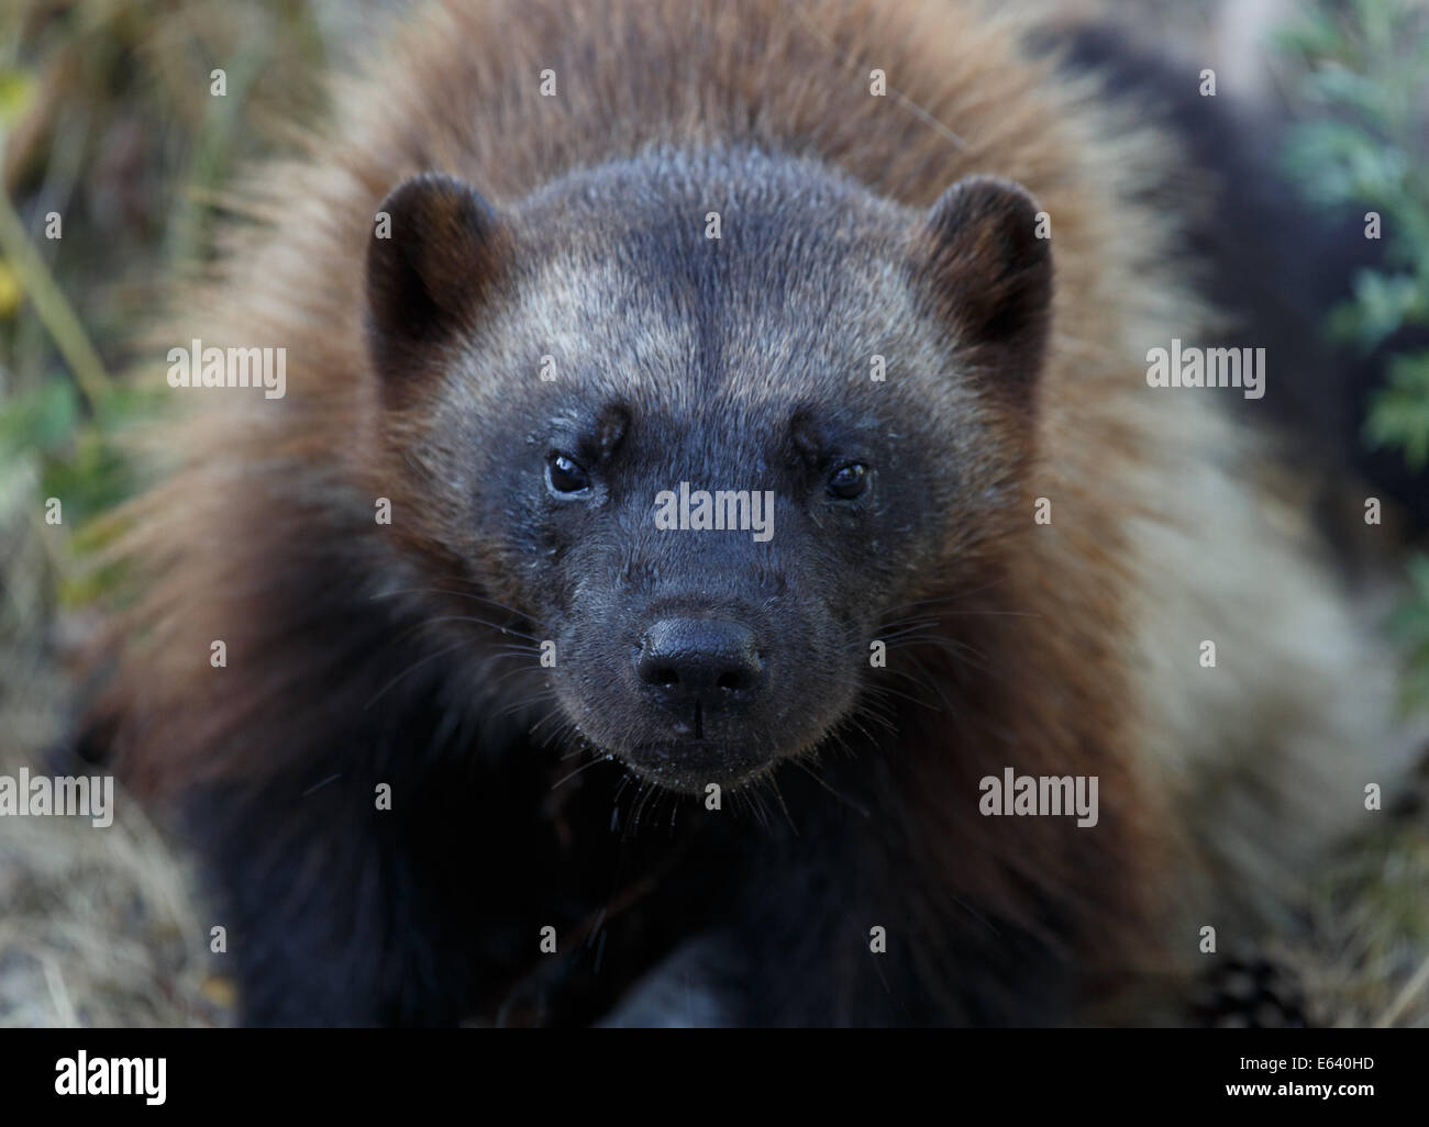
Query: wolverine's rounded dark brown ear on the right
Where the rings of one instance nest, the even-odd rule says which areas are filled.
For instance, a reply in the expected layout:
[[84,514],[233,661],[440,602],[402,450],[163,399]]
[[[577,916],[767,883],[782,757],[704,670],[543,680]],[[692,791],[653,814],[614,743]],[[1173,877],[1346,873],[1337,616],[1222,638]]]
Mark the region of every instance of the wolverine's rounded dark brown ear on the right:
[[1052,314],[1052,246],[1037,216],[1020,184],[969,176],[933,204],[917,251],[959,341],[1020,391],[1035,384]]

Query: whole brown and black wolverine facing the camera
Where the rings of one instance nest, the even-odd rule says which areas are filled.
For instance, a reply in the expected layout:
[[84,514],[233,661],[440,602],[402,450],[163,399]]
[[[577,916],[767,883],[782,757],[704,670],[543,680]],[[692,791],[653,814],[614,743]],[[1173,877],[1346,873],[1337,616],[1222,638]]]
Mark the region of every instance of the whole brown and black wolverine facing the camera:
[[[244,1023],[1176,1021],[1392,784],[1258,404],[1146,357],[1295,373],[1059,36],[442,0],[256,171],[171,334],[286,394],[176,393],[84,726]],[[1012,776],[1095,818],[986,816]]]

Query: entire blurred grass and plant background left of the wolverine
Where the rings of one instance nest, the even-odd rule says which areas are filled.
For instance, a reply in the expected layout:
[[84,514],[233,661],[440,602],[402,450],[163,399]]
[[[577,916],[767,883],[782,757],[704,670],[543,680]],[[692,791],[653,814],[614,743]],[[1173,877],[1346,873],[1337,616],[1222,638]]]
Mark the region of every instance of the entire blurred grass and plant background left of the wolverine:
[[[373,3],[0,0],[0,771],[63,751],[69,658],[117,590],[91,549],[167,401],[163,296],[211,260],[233,176],[316,120]],[[227,1020],[187,870],[137,803],[101,836],[21,821],[0,834],[0,1027]]]

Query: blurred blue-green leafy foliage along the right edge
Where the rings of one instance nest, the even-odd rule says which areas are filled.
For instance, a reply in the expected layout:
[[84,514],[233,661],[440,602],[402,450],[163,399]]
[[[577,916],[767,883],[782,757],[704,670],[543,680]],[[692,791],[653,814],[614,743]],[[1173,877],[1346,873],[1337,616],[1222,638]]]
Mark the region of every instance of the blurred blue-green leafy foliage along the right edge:
[[[1429,327],[1429,7],[1422,0],[1348,0],[1303,14],[1282,36],[1299,59],[1308,109],[1286,150],[1305,194],[1326,209],[1378,216],[1383,264],[1353,279],[1329,339],[1366,353],[1405,329]],[[1373,214],[1370,214],[1373,213]],[[1429,467],[1429,349],[1388,357],[1388,380],[1365,420],[1370,447]],[[1409,651],[1405,697],[1429,707],[1429,557],[1409,561],[1412,594],[1395,631]]]

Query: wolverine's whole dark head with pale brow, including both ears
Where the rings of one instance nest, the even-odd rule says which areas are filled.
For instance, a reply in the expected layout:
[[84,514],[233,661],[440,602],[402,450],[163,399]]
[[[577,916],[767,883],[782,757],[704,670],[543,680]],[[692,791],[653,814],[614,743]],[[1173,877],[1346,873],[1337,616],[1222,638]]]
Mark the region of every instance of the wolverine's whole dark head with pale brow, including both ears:
[[646,780],[817,748],[880,624],[1017,503],[1049,267],[1015,187],[925,216],[810,163],[656,153],[502,216],[444,179],[384,209],[372,351],[426,420],[440,534]]

